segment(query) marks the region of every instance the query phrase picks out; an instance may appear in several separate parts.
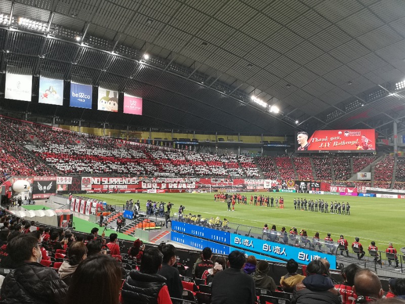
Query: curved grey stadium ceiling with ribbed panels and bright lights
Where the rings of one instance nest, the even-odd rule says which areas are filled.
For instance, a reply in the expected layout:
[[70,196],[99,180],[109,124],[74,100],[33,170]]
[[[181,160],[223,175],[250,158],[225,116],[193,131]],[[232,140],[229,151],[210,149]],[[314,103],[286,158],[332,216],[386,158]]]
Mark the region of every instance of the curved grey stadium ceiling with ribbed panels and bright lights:
[[0,0],[0,13],[2,83],[10,64],[145,100],[142,117],[8,109],[209,132],[405,129],[402,0]]

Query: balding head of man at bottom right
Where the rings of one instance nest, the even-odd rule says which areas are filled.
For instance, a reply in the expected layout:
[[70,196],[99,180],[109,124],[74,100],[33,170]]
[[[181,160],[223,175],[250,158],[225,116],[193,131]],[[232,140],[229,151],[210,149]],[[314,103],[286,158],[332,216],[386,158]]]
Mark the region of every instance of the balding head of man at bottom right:
[[375,302],[383,296],[378,276],[368,269],[360,270],[354,276],[353,293],[357,294],[355,303]]

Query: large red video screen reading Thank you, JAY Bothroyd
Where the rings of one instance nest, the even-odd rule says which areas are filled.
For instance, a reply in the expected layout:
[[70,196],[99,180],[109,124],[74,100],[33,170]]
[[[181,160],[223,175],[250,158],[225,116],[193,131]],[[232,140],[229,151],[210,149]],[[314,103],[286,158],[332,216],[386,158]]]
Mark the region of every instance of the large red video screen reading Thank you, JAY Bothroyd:
[[374,129],[318,130],[310,136],[307,132],[296,135],[297,153],[371,153],[376,150]]

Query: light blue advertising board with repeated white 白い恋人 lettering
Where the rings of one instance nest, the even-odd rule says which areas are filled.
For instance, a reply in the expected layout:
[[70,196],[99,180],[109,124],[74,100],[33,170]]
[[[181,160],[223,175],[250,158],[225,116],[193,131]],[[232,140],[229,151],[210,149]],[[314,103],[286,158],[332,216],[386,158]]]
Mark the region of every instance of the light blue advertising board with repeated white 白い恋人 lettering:
[[245,251],[264,253],[285,260],[293,258],[297,262],[302,264],[309,264],[309,262],[313,259],[326,258],[331,263],[331,267],[333,269],[336,265],[336,256],[332,254],[302,249],[285,244],[263,241],[250,237],[243,237],[237,234],[231,234],[230,245]]

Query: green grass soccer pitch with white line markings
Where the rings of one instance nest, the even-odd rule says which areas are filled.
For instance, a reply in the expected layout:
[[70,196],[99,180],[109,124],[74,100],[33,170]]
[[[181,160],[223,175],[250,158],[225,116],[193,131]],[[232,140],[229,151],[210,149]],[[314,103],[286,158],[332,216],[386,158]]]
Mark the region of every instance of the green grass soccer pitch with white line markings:
[[[130,199],[133,199],[134,202],[139,200],[141,211],[146,211],[147,200],[172,202],[174,203],[172,215],[177,212],[180,205],[183,205],[186,206],[185,214],[201,214],[205,218],[219,216],[221,220],[225,217],[232,223],[259,228],[267,223],[270,229],[271,225],[275,224],[277,231],[280,231],[282,226],[285,226],[287,231],[294,226],[297,227],[298,232],[305,229],[310,238],[315,232],[319,232],[320,238],[323,239],[330,232],[333,240],[337,241],[343,234],[349,244],[354,242],[354,237],[359,237],[360,243],[365,249],[369,247],[371,241],[375,241],[381,251],[387,248],[389,242],[393,243],[398,252],[401,247],[405,246],[399,229],[403,224],[405,200],[297,193],[256,193],[257,195],[269,195],[274,199],[284,197],[284,209],[276,209],[275,207],[250,206],[250,197],[254,193],[248,192],[246,193],[248,204],[236,204],[235,212],[230,212],[227,211],[226,203],[214,202],[214,194],[88,194],[87,196],[106,201],[111,205],[122,205]],[[293,200],[298,197],[314,201],[323,199],[329,205],[331,201],[335,202],[335,200],[338,203],[349,202],[351,215],[294,210]]]

